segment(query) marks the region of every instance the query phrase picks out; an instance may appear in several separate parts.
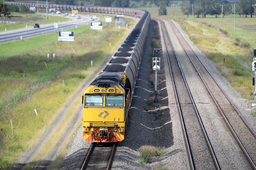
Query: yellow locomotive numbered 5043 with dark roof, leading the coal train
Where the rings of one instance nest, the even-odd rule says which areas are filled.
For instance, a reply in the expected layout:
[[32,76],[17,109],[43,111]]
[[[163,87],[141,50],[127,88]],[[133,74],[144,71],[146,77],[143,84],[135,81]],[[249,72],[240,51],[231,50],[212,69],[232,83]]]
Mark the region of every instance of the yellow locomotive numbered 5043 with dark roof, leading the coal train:
[[130,89],[126,73],[103,72],[83,95],[83,139],[118,142],[124,139],[129,114]]

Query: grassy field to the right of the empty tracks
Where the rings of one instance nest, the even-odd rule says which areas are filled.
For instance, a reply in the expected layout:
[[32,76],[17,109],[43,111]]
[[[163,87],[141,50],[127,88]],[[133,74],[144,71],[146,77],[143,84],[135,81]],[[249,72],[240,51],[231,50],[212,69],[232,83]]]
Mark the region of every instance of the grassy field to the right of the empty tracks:
[[[217,69],[224,75],[232,88],[241,94],[242,98],[253,100],[254,86],[252,78],[252,50],[256,48],[254,36],[255,16],[240,18],[236,15],[236,31],[234,14],[215,18],[194,18],[183,15],[180,7],[167,7],[166,16],[158,16],[157,8],[143,8],[152,17],[163,17],[178,22],[190,40],[208,58],[214,61]],[[225,58],[225,64],[224,64]],[[253,101],[252,101],[253,102]],[[248,106],[251,107],[251,106]]]

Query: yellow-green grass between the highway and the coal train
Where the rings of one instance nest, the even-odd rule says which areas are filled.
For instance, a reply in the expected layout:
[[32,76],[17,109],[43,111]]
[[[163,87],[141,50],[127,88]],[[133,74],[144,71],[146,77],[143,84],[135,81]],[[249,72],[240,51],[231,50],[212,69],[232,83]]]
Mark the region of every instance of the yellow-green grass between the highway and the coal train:
[[[134,26],[134,20],[127,20],[130,28],[117,29],[112,24],[105,26],[103,30],[90,30],[89,26],[70,29],[75,33],[75,42],[53,43],[1,64],[0,95],[5,97],[1,98],[0,169],[15,166],[16,159],[23,152],[28,152],[40,139],[86,77],[99,68],[106,56],[114,54]],[[41,38],[46,36],[48,35]],[[49,36],[58,35],[55,33]],[[24,41],[24,46],[34,43],[33,38]],[[22,49],[23,45],[19,47]],[[56,54],[55,58],[53,53]],[[80,103],[78,99],[67,112],[66,122],[61,122],[57,132],[51,136],[51,141],[48,141],[32,164],[38,164],[39,159],[45,158],[56,145],[56,141],[59,141],[60,135],[63,135],[77,113]]]

